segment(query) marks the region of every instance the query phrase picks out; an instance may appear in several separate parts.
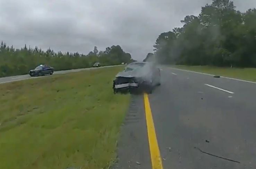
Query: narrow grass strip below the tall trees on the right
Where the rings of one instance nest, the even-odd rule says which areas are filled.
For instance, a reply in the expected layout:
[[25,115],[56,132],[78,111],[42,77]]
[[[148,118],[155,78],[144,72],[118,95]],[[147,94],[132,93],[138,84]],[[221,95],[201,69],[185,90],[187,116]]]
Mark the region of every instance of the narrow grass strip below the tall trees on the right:
[[256,81],[256,68],[221,68],[215,66],[185,66],[173,65],[173,68],[191,70],[224,77],[237,78],[242,80]]

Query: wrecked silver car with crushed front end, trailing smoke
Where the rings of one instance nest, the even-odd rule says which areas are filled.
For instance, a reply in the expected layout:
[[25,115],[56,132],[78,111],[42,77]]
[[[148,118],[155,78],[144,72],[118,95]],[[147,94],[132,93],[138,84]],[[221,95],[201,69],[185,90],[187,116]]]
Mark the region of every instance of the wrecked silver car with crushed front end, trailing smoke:
[[114,93],[142,89],[152,93],[155,86],[161,84],[160,69],[153,62],[133,62],[116,75],[113,81]]

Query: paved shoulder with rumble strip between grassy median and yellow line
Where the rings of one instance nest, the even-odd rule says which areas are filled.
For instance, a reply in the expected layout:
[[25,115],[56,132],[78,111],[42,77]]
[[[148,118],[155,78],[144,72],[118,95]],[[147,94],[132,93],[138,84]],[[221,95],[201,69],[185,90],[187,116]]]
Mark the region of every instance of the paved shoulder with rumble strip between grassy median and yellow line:
[[133,95],[118,142],[112,169],[151,168],[143,95]]

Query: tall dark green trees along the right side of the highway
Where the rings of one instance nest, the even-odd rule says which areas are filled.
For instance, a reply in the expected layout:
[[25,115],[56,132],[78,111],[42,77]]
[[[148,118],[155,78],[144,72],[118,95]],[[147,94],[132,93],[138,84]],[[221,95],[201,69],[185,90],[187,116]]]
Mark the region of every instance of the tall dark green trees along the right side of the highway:
[[230,0],[213,0],[182,27],[159,35],[153,58],[160,63],[256,67],[256,9],[242,13]]

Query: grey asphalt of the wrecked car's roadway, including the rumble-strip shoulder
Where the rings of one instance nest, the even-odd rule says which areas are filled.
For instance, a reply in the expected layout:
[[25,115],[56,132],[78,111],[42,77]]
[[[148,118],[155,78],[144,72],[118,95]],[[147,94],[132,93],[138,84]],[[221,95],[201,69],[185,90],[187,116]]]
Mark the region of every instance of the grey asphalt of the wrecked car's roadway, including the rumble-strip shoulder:
[[133,95],[113,168],[255,169],[256,83],[161,69],[162,84],[148,95],[158,144],[145,96]]

